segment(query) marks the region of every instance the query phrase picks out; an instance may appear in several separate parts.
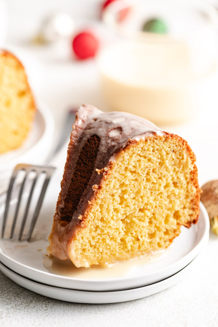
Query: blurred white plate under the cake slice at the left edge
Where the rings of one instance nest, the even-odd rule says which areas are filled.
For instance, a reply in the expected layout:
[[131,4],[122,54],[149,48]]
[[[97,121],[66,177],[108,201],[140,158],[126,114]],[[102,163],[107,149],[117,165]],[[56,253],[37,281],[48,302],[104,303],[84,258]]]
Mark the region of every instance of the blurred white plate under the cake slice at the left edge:
[[54,118],[47,107],[37,103],[33,127],[23,146],[0,154],[0,187],[17,163],[42,164],[48,156],[54,136]]

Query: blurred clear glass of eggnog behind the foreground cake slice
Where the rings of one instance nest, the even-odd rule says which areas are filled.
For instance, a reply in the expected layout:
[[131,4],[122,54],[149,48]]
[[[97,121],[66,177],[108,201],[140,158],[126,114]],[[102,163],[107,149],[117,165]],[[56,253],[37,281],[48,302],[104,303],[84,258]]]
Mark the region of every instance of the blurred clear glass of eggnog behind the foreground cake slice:
[[217,110],[218,15],[200,1],[113,1],[103,20],[113,35],[97,63],[109,110],[157,124]]

